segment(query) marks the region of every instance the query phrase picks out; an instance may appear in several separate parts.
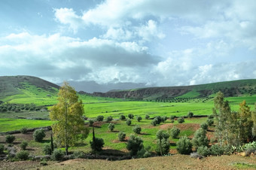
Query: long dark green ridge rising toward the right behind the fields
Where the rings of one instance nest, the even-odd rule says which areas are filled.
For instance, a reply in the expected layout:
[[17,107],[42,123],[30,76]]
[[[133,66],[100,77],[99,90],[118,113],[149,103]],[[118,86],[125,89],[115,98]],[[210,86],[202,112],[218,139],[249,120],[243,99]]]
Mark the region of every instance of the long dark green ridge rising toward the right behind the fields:
[[169,100],[173,98],[208,98],[218,91],[224,93],[225,97],[252,96],[256,94],[256,80],[233,80],[183,87],[148,87],[93,93],[93,96],[136,100]]

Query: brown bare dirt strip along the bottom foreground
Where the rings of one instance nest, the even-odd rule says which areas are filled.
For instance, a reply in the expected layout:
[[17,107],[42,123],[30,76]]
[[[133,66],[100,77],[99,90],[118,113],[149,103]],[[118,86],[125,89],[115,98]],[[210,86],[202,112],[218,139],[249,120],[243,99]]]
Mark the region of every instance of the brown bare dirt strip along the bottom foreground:
[[256,156],[210,156],[194,159],[187,155],[176,154],[121,161],[72,159],[47,163],[48,165],[43,166],[40,162],[33,161],[0,162],[0,169],[237,169],[234,165],[236,163],[245,165],[245,169],[255,169]]

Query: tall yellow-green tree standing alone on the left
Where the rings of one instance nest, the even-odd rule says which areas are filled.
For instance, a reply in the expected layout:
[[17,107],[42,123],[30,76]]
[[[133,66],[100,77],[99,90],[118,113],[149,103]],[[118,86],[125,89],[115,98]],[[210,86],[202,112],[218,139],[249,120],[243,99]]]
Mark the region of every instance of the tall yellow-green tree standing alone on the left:
[[55,121],[52,125],[53,134],[58,144],[66,147],[66,155],[68,148],[75,144],[79,138],[79,134],[89,133],[84,126],[84,105],[82,101],[78,101],[78,95],[69,83],[64,82],[58,93],[58,103],[53,105],[50,110],[50,120]]

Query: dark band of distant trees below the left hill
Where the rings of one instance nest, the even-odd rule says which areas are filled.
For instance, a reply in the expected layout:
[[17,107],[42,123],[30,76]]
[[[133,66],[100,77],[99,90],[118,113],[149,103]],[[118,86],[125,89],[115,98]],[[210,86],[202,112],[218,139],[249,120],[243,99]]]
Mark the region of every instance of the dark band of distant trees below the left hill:
[[3,103],[0,102],[0,112],[7,112],[7,111],[41,111],[46,110],[45,106],[36,106],[34,103],[30,104],[14,104],[14,103]]

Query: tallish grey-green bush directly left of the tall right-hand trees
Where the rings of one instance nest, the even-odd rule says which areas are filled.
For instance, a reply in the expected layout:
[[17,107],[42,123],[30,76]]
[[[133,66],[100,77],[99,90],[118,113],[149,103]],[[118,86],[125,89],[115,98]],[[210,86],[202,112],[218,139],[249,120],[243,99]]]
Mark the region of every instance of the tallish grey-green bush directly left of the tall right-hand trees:
[[197,131],[194,134],[194,137],[192,139],[192,143],[194,144],[194,147],[201,147],[201,146],[208,146],[209,140],[206,136],[206,130],[200,128],[197,129]]

